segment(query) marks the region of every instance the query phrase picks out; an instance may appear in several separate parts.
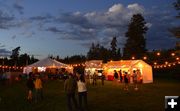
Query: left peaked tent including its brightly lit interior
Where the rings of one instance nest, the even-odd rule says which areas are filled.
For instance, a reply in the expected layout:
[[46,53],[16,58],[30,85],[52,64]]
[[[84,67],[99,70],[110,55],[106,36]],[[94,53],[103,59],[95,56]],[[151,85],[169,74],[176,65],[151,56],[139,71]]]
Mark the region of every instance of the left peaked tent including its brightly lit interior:
[[29,74],[30,72],[32,73],[46,72],[51,74],[57,74],[65,71],[72,73],[73,67],[51,58],[42,59],[38,62],[35,62],[31,65],[24,67],[23,69],[23,73],[25,74]]

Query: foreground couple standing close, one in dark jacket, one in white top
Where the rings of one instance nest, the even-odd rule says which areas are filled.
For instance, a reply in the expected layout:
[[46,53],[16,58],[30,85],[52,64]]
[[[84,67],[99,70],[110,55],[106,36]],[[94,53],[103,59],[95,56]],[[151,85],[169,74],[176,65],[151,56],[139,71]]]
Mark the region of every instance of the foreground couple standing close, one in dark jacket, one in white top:
[[[64,90],[67,98],[68,111],[73,111],[73,104],[76,110],[87,110],[87,87],[83,74],[69,74],[65,80]],[[78,103],[76,100],[76,90],[78,91]],[[84,106],[83,106],[84,104]]]

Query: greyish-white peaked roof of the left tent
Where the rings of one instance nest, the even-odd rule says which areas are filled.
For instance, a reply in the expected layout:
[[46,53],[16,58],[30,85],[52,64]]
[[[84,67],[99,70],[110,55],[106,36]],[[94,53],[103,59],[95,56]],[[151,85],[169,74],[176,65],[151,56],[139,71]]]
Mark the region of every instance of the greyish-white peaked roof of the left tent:
[[45,58],[45,59],[42,59],[36,63],[33,63],[33,64],[27,66],[27,67],[49,67],[49,68],[52,68],[52,67],[67,67],[67,66],[68,65],[58,62],[56,60],[53,60],[51,58]]

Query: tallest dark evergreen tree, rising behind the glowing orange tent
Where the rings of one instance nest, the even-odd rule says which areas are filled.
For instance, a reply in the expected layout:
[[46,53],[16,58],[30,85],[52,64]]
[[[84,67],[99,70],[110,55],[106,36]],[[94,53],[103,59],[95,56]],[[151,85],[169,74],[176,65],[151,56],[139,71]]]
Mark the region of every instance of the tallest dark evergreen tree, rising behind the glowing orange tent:
[[133,15],[128,25],[128,31],[125,33],[127,37],[123,51],[125,59],[130,59],[131,56],[139,59],[146,52],[145,34],[147,30],[148,28],[143,16],[141,14]]

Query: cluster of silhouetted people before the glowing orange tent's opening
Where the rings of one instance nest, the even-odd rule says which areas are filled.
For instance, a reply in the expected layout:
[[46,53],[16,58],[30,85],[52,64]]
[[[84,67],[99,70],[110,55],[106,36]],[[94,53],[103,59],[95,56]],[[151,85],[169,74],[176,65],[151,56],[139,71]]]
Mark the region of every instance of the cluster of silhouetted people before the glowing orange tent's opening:
[[119,70],[118,72],[114,70],[114,80],[120,81],[121,83],[125,83],[124,90],[128,90],[128,83],[130,80],[134,83],[134,90],[138,90],[137,84],[142,82],[142,76],[139,69],[133,70],[132,74],[128,74],[128,72],[123,72]]

